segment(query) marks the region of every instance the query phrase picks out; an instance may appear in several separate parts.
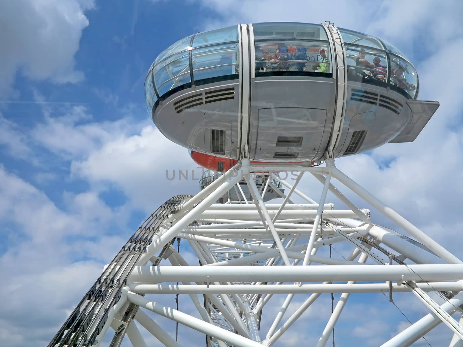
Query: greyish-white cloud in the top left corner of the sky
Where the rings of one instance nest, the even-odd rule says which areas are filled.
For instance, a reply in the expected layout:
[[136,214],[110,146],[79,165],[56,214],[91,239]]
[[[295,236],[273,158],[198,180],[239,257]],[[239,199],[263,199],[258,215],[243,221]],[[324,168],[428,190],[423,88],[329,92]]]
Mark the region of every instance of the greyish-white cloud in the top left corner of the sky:
[[74,55],[88,26],[84,11],[92,8],[94,0],[2,1],[0,93],[14,94],[18,71],[32,80],[81,81],[84,75],[75,70]]

